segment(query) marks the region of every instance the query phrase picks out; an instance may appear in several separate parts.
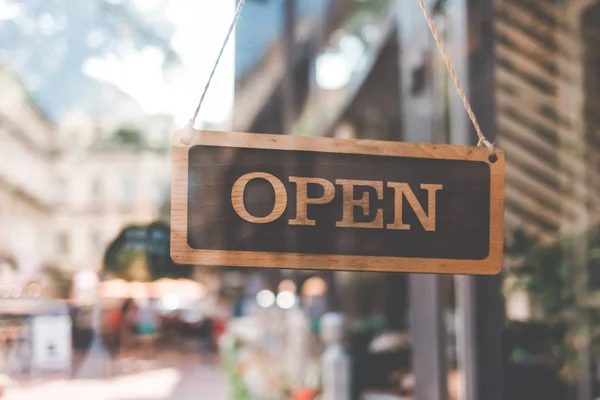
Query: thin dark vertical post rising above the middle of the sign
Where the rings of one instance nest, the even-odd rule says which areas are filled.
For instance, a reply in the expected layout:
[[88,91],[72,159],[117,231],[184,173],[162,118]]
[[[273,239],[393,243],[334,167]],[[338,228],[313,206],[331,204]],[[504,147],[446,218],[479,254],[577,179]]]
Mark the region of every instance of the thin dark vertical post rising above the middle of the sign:
[[294,58],[296,45],[296,0],[284,2],[283,41],[285,49],[285,76],[283,81],[283,124],[284,133],[289,134],[296,117],[296,84]]

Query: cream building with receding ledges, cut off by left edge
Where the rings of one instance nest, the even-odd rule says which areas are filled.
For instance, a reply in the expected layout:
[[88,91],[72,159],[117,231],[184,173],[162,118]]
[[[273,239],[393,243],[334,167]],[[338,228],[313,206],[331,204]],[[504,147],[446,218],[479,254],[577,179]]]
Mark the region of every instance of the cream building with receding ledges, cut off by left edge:
[[50,258],[52,125],[0,65],[0,264],[35,269]]

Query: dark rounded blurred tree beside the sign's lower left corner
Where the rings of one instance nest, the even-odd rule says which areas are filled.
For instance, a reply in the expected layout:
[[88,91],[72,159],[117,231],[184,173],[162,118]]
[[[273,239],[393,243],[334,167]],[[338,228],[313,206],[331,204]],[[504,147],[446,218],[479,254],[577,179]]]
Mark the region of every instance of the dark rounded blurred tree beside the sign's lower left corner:
[[128,281],[189,278],[192,267],[171,259],[170,240],[167,223],[128,226],[106,249],[104,271]]

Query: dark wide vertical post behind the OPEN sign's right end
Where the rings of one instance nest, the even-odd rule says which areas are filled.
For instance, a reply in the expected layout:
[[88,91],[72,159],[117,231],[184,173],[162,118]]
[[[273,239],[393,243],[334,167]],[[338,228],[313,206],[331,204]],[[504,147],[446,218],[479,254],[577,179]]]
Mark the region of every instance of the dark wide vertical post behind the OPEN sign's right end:
[[[480,126],[494,140],[493,0],[454,0],[448,3],[447,14],[451,16],[449,52],[455,70]],[[451,91],[450,108],[451,142],[474,145],[475,131],[455,91]],[[502,400],[502,277],[457,276],[456,283],[457,345],[465,400]]]

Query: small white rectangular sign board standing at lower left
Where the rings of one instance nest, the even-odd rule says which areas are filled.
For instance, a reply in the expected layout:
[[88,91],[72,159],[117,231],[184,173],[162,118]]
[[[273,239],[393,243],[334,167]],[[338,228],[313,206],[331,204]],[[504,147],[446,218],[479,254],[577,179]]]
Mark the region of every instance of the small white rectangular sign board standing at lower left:
[[71,318],[67,315],[34,317],[32,364],[39,370],[71,368]]

